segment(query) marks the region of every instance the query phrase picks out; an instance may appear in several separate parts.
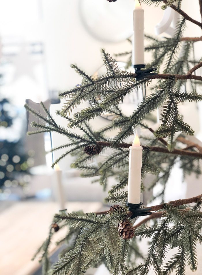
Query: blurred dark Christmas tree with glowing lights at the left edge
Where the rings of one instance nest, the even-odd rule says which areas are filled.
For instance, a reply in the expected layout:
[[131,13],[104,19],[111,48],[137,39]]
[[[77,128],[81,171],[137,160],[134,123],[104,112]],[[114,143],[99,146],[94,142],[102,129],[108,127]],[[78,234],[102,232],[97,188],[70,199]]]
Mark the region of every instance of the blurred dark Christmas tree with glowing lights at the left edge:
[[[18,117],[16,108],[8,99],[1,99],[0,131],[3,133],[9,131],[16,117]],[[14,132],[12,134],[12,141],[8,139],[9,135],[0,136],[0,192],[6,196],[10,194],[9,188],[27,186],[30,178],[29,167],[33,165],[33,159],[25,153],[23,138],[16,140]]]

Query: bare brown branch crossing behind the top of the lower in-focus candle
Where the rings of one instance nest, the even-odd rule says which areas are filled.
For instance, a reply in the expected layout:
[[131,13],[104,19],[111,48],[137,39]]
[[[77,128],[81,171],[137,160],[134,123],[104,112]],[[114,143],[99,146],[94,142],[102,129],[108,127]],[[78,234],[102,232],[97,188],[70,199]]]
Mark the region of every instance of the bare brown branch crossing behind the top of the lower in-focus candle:
[[[105,142],[105,141],[98,141],[97,144],[100,146],[103,146],[103,147],[118,147],[118,148],[129,148],[132,145],[130,143],[117,143],[117,144],[113,145],[112,142]],[[150,147],[142,146],[142,147],[143,147],[143,150],[150,150],[152,152],[202,158],[202,153],[199,153],[199,152],[186,151],[186,150],[182,150],[182,149],[174,149],[173,151],[169,151],[166,148],[155,147],[155,146],[150,146]]]

